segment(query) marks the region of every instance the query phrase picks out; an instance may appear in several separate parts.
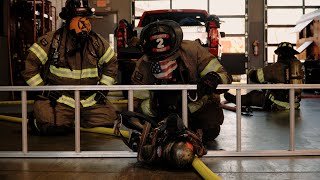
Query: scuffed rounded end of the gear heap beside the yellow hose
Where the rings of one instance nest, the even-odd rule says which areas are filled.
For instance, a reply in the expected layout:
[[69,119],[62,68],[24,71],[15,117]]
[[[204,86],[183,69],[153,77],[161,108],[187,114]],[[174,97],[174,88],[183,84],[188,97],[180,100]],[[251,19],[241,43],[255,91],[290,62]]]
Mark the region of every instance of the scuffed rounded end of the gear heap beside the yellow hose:
[[193,145],[188,141],[171,142],[164,147],[163,158],[175,167],[189,167],[194,157]]

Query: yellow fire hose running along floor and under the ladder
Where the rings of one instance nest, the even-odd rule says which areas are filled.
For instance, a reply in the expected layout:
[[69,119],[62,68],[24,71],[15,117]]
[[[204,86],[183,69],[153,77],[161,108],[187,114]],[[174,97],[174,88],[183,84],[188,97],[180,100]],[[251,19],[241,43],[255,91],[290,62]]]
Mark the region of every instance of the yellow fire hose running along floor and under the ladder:
[[[0,120],[22,123],[22,118],[12,117],[12,116],[5,116],[0,115]],[[99,134],[108,134],[113,135],[114,130],[112,128],[104,128],[104,127],[95,127],[95,128],[80,128],[81,131],[84,132],[92,132],[92,133],[99,133]],[[129,132],[125,130],[120,130],[121,134],[129,138]],[[221,180],[221,178],[214,174],[198,157],[195,157],[192,162],[193,168],[203,177],[205,180]]]

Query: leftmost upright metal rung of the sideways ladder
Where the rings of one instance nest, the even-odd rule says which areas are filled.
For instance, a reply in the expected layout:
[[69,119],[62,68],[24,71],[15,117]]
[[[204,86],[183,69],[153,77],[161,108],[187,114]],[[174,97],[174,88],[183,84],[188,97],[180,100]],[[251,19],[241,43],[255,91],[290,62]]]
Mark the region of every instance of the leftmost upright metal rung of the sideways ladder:
[[28,153],[28,119],[27,119],[27,92],[21,91],[22,105],[22,152]]

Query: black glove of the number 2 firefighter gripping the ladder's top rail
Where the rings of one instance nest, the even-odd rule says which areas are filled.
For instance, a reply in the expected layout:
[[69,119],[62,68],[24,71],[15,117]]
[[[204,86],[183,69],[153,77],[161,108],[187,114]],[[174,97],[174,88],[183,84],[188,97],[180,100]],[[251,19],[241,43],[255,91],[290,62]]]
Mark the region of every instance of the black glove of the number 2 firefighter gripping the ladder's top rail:
[[220,76],[215,72],[209,72],[208,74],[203,76],[197,84],[197,91],[199,96],[201,97],[215,92],[219,82]]

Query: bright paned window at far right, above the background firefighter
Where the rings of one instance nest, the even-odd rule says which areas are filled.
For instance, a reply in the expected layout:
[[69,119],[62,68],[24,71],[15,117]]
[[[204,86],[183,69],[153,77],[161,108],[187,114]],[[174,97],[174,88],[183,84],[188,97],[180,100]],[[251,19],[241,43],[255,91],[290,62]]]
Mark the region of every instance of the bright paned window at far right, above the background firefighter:
[[293,33],[297,21],[303,14],[320,8],[319,0],[266,0],[267,62],[276,60],[274,50],[280,42],[296,44],[298,35]]

